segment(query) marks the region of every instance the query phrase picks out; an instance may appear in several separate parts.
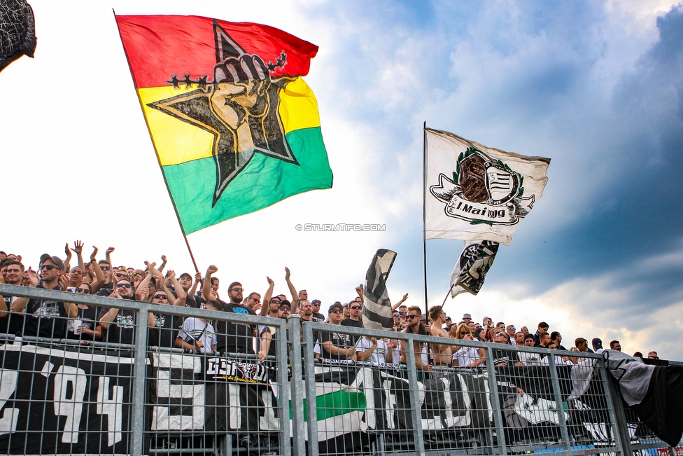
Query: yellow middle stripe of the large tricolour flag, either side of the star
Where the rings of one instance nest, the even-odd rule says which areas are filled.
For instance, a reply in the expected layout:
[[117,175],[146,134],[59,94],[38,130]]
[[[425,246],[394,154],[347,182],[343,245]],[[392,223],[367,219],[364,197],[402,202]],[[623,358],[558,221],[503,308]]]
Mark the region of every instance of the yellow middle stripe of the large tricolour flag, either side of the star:
[[[197,89],[174,89],[171,85],[138,89],[143,113],[162,166],[179,165],[211,157],[213,134],[147,106],[148,103],[192,90]],[[285,89],[280,91],[279,113],[285,133],[302,128],[320,127],[318,102],[313,90],[302,78],[288,83]]]

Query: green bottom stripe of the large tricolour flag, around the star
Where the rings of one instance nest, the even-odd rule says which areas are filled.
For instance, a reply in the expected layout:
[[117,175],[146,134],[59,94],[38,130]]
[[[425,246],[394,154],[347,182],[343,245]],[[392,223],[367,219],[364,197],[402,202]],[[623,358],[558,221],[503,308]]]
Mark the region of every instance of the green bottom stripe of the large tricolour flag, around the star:
[[162,167],[185,235],[298,193],[332,188],[332,170],[320,127],[295,130],[285,137],[299,166],[255,153],[213,208],[213,157]]

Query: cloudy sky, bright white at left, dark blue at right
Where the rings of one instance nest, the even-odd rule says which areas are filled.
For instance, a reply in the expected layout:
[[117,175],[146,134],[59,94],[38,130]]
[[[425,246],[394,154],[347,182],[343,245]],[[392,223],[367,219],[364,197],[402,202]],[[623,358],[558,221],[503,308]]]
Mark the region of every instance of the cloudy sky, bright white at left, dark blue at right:
[[[0,73],[0,250],[37,266],[83,240],[139,267],[192,263],[129,75],[117,14],[272,25],[320,46],[318,97],[334,187],[188,237],[224,283],[349,300],[376,249],[398,252],[393,299],[424,306],[422,125],[552,159],[543,198],[501,246],[458,319],[549,322],[574,338],[683,359],[683,6],[663,0],[393,2],[29,1],[38,48]],[[242,6],[244,5],[244,6]],[[383,233],[297,232],[381,223]],[[427,245],[440,304],[457,240]],[[87,251],[89,254],[90,251]],[[225,292],[225,290],[224,290]]]

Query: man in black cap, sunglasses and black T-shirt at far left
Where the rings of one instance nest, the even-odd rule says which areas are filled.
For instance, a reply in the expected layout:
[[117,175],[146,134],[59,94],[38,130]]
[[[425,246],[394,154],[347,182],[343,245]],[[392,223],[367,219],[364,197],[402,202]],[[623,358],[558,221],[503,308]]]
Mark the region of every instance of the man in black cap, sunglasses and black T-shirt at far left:
[[[30,269],[29,269],[30,270]],[[29,274],[30,286],[48,290],[66,290],[64,263],[57,256],[41,256],[41,283],[38,277]],[[78,317],[78,308],[72,303],[58,303],[53,300],[19,298],[13,303],[15,312],[26,311],[24,336],[45,338],[66,337],[66,323],[69,318]]]

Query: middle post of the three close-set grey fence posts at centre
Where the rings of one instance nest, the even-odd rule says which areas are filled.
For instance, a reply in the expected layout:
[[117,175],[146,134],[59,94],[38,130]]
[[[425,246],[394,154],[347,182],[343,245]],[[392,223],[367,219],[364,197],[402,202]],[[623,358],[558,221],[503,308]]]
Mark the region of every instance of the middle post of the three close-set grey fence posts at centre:
[[[289,352],[290,367],[292,369],[292,401],[288,403],[288,414],[292,414],[292,436],[294,439],[294,454],[297,456],[306,454],[306,434],[304,434],[304,392],[300,378],[303,378],[301,368],[301,319],[299,315],[287,317],[289,324]],[[310,421],[310,418],[309,418]]]

